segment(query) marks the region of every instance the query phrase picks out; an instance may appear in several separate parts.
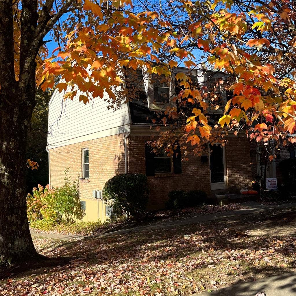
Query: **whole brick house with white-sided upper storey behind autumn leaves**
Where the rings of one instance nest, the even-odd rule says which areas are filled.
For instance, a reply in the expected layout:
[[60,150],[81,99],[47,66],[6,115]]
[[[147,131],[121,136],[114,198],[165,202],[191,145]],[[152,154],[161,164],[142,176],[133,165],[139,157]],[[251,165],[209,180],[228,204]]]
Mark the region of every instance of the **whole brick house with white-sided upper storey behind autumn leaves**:
[[[180,67],[178,71],[188,69]],[[106,219],[108,207],[100,199],[100,190],[109,178],[120,173],[147,175],[149,209],[162,208],[171,190],[201,189],[213,195],[251,188],[252,155],[245,136],[230,135],[225,147],[213,146],[213,153],[206,152],[202,157],[189,155],[188,161],[181,161],[181,154],[167,157],[149,150],[145,142],[157,137],[151,128],[155,112],[171,104],[170,97],[177,93],[178,86],[152,81],[147,73],[140,72],[135,79],[137,98],[115,111],[107,108],[107,94],[84,105],[78,98],[64,102],[63,94],[54,92],[49,102],[47,146],[50,186],[64,184],[65,168],[70,169],[72,178],[79,175],[85,221]],[[192,80],[205,84],[210,79],[221,79],[221,74],[209,73],[192,70]],[[132,89],[132,85],[127,88]],[[228,94],[221,89],[219,95],[223,107]]]

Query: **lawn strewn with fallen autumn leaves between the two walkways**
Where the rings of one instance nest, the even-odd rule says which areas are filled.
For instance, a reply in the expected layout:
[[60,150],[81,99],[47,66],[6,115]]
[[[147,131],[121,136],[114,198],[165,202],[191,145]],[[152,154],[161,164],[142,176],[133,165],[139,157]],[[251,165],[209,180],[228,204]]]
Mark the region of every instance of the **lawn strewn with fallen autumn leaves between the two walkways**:
[[[191,295],[295,269],[296,211],[79,241],[35,239],[66,266],[0,282],[0,295]],[[247,234],[248,236],[246,236]]]

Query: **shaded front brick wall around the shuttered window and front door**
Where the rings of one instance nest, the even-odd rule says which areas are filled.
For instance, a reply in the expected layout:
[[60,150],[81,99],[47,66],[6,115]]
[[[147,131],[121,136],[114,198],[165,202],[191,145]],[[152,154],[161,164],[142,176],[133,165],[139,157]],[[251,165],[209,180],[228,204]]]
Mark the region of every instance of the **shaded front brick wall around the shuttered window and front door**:
[[[151,140],[148,136],[128,137],[128,172],[145,173],[144,143]],[[190,150],[190,148],[188,148]],[[250,143],[245,138],[228,138],[225,147],[228,185],[231,193],[242,188],[251,188]],[[149,207],[163,207],[171,190],[200,189],[211,195],[209,161],[202,164],[198,156],[189,155],[182,162],[181,174],[167,174],[163,177],[148,176]]]

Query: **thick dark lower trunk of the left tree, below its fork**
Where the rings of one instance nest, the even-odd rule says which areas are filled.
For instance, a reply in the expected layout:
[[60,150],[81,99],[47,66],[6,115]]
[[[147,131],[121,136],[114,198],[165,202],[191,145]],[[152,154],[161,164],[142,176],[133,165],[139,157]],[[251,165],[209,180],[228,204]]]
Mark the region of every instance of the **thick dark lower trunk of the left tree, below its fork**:
[[[33,86],[33,84],[32,84]],[[8,93],[4,89],[3,93]],[[0,265],[36,260],[26,210],[27,129],[35,98],[34,89],[23,91],[14,83],[11,96],[0,106]],[[17,102],[20,98],[22,104]],[[22,99],[21,99],[22,97]],[[27,100],[24,100],[27,97]],[[11,103],[9,103],[11,102]],[[33,140],[33,139],[32,139]]]

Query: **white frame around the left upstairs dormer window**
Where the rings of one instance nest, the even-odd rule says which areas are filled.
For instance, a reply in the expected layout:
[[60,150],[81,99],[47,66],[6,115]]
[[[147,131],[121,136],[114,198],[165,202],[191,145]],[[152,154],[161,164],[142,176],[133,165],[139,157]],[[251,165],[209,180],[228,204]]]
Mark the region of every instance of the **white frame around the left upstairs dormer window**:
[[148,74],[146,67],[142,68],[142,73],[143,73],[145,91],[147,94],[148,108],[150,110],[165,111],[167,109],[167,107],[171,107],[173,105],[171,98],[173,96],[176,96],[175,83],[174,83],[175,75],[173,73],[171,74],[171,81],[170,81],[170,84],[168,85],[169,102],[163,103],[163,102],[155,102],[155,100],[154,100],[154,85],[153,85],[153,81],[152,81],[152,75]]

